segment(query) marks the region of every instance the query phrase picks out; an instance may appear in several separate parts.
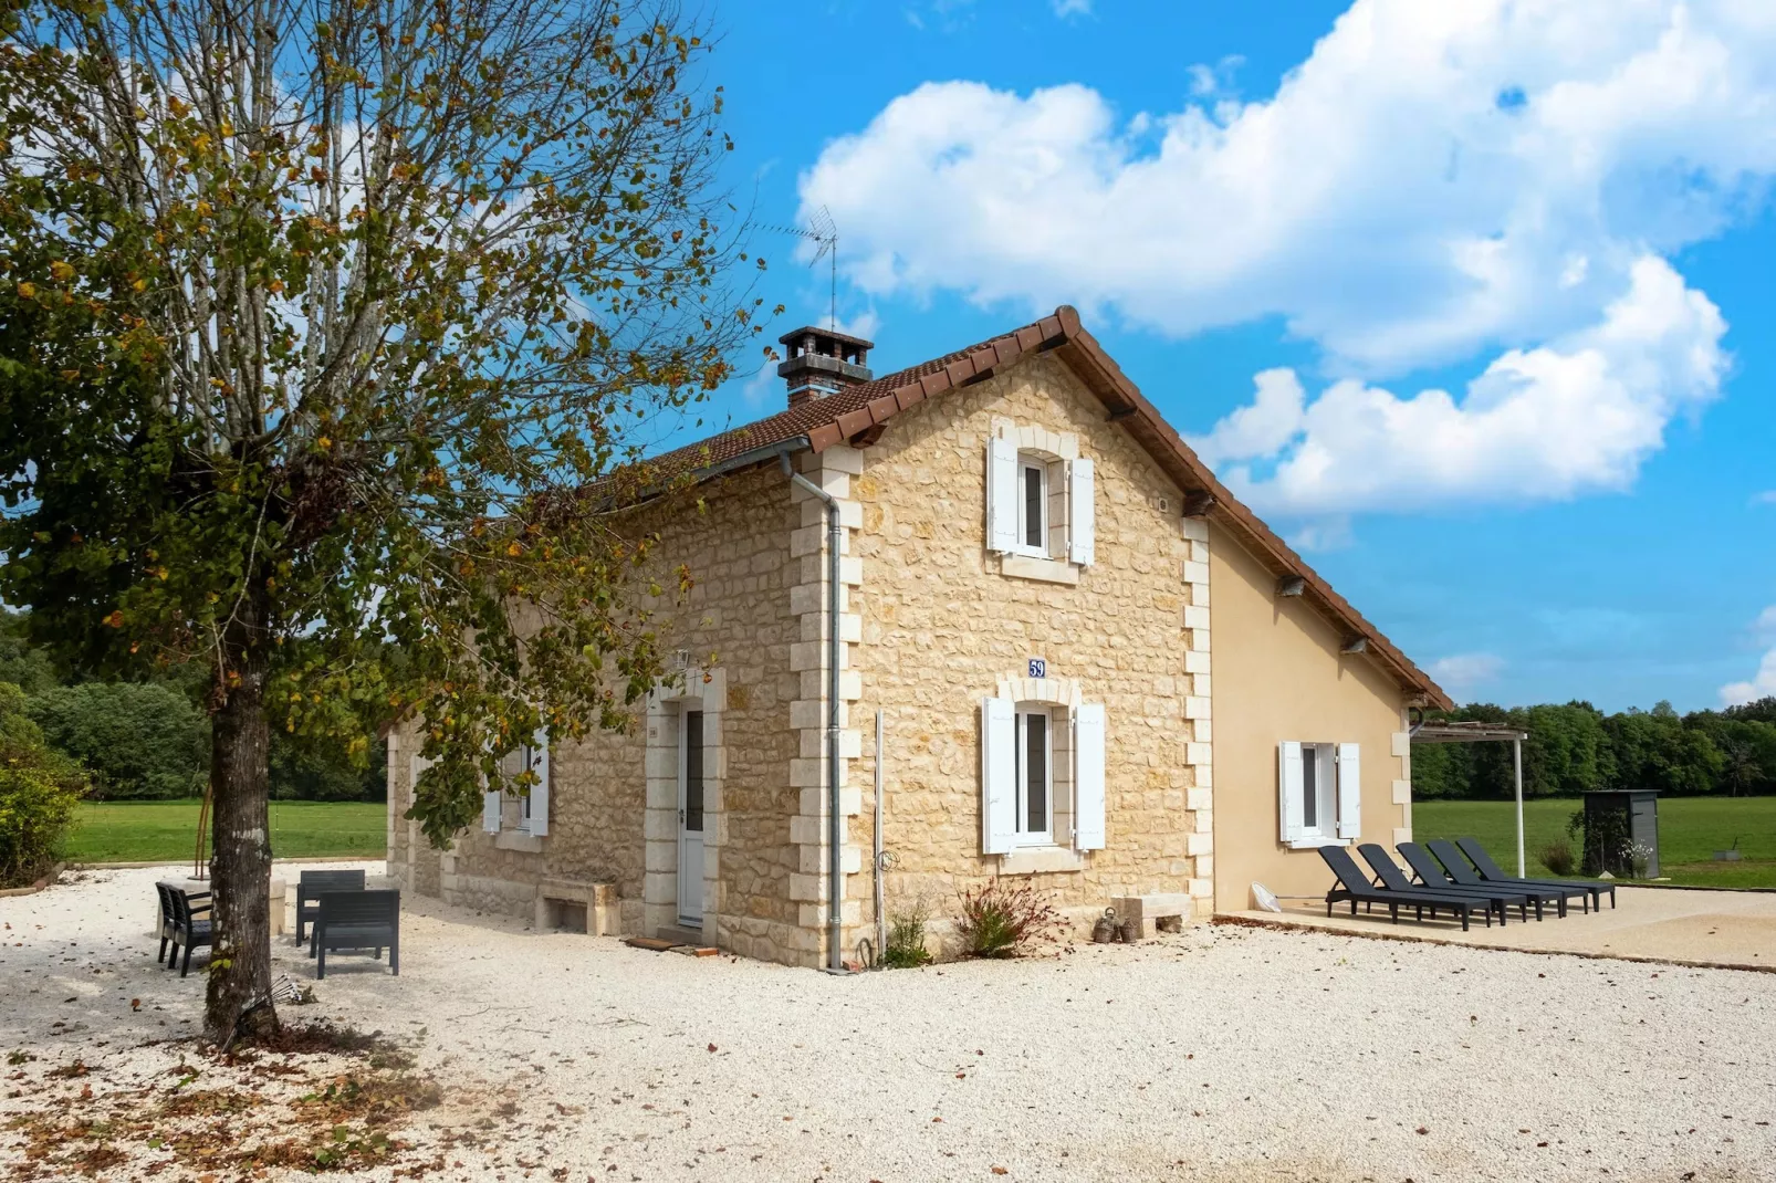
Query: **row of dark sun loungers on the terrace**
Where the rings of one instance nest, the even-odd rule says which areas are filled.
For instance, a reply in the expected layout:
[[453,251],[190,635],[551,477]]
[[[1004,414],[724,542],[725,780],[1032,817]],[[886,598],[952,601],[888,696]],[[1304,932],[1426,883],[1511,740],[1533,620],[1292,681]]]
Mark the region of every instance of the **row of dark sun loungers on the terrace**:
[[[1460,849],[1458,849],[1460,847]],[[1566,915],[1566,901],[1577,899],[1584,911],[1604,906],[1604,893],[1609,893],[1609,906],[1616,906],[1616,886],[1613,883],[1590,879],[1522,879],[1499,870],[1492,856],[1474,838],[1456,842],[1435,840],[1419,846],[1401,842],[1399,858],[1405,860],[1412,876],[1401,870],[1389,853],[1375,842],[1357,847],[1362,860],[1373,872],[1366,876],[1350,851],[1339,846],[1320,847],[1320,856],[1332,869],[1337,885],[1327,892],[1327,915],[1334,904],[1350,904],[1357,915],[1357,904],[1373,911],[1376,904],[1387,908],[1394,924],[1399,924],[1399,909],[1410,908],[1423,920],[1430,911],[1431,918],[1439,911],[1447,911],[1462,920],[1467,929],[1476,915],[1485,917],[1487,927],[1497,917],[1504,924],[1510,909],[1515,908],[1520,920],[1529,918],[1534,908],[1536,920],[1542,920],[1543,908],[1554,906],[1561,917]]]

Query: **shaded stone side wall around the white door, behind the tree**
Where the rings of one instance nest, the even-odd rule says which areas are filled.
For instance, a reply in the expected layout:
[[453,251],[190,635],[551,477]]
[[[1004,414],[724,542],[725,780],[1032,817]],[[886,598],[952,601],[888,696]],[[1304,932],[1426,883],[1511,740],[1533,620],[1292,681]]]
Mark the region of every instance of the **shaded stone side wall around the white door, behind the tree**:
[[[703,512],[689,503],[662,504],[638,513],[629,528],[659,531],[646,574],[662,574],[668,588],[655,620],[662,648],[684,650],[691,664],[718,673],[719,758],[709,773],[719,787],[705,801],[718,940],[751,956],[796,959],[794,945],[803,941],[789,899],[789,877],[797,870],[789,817],[797,801],[790,785],[797,744],[789,716],[799,691],[790,668],[790,645],[799,638],[790,613],[790,586],[799,577],[790,531],[799,515],[774,467],[700,494]],[[677,579],[670,572],[678,563],[694,586],[673,604]],[[554,748],[547,837],[515,833],[517,806],[508,803],[508,830],[499,840],[471,826],[444,854],[426,846],[416,822],[400,817],[412,799],[408,769],[417,737],[412,725],[398,728],[389,757],[391,872],[408,890],[524,917],[533,915],[545,881],[614,883],[623,931],[641,931],[650,879],[654,895],[671,892],[677,870],[677,812],[655,808],[648,817],[648,730],[662,730],[659,723],[657,709],[650,714],[648,703],[636,703],[627,734],[604,732]],[[664,742],[671,737],[655,735],[657,748]]]

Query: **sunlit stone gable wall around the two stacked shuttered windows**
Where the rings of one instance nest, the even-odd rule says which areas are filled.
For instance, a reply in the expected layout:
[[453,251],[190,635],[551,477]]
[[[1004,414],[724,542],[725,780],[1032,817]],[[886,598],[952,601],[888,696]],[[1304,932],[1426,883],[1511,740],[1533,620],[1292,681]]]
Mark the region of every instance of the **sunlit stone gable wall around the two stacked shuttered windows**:
[[[1096,563],[1076,584],[1002,574],[986,551],[986,448],[996,419],[1073,433],[1096,464]],[[1083,924],[1114,895],[1186,893],[1193,885],[1206,895],[1197,856],[1206,870],[1213,814],[1188,762],[1208,760],[1208,746],[1193,742],[1199,726],[1208,739],[1208,719],[1195,718],[1208,712],[1199,698],[1206,673],[1197,689],[1185,623],[1186,563],[1208,554],[1193,554],[1177,490],[1147,453],[1106,423],[1103,403],[1064,362],[1041,355],[895,416],[863,451],[854,487],[861,643],[851,728],[860,732],[852,783],[863,801],[851,826],[860,874],[847,876],[845,893],[847,904],[861,901],[856,920],[872,922],[877,707],[886,711],[890,913],[924,899],[941,922],[955,913],[961,888],[995,872],[1053,892]],[[980,703],[1023,677],[1028,657],[1048,661],[1051,684],[1076,680],[1085,702],[1106,709],[1106,847],[1076,867],[1019,870],[1030,860],[980,851]],[[852,945],[854,934],[847,925]]]

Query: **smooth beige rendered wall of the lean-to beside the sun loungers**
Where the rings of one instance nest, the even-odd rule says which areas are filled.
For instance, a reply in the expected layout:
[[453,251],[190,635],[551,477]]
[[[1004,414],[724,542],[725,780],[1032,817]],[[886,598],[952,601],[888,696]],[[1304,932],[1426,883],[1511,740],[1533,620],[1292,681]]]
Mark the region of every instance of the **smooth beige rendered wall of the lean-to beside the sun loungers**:
[[[1410,837],[1405,698],[1341,634],[1225,531],[1209,531],[1215,647],[1215,908],[1252,908],[1252,881],[1279,895],[1323,895],[1332,872],[1316,851],[1279,840],[1277,744],[1362,744],[1362,840]],[[1398,798],[1398,801],[1396,801]],[[1359,860],[1360,863],[1360,860]]]

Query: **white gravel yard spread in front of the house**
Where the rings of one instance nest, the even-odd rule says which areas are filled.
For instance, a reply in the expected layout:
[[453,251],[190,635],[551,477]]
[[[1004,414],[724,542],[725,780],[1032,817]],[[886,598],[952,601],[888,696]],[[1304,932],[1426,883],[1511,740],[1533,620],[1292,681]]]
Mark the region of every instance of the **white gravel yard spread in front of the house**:
[[[0,899],[32,1073],[178,1055],[158,874]],[[437,1178],[1776,1179],[1776,975],[1197,927],[833,979],[408,904],[400,979],[341,956],[284,1014],[417,1037],[460,1087],[423,1137],[517,1103]]]

